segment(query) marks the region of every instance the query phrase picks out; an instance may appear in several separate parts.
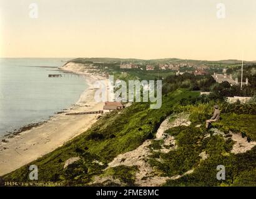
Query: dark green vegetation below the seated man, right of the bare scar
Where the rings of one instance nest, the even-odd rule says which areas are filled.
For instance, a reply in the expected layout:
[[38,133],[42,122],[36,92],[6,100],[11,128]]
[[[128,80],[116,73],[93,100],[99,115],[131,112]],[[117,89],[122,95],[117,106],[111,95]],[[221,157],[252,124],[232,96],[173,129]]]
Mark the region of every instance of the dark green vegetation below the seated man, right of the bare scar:
[[[252,115],[248,116],[252,117]],[[244,116],[241,116],[240,119],[243,121],[243,118]],[[177,180],[168,180],[165,186],[256,185],[256,180],[253,178],[256,166],[253,161],[256,157],[256,147],[245,154],[235,155],[230,153],[234,141],[225,140],[219,135],[205,138],[205,132],[202,129],[192,126],[173,127],[165,131],[175,137],[177,149],[170,150],[167,154],[154,152],[149,159],[149,164],[162,176],[184,175],[187,171],[194,170],[192,174],[184,175]],[[246,124],[242,128],[246,128]],[[153,142],[150,147],[157,150],[160,144],[160,141]],[[207,154],[207,159],[200,159],[201,152]],[[217,180],[217,165],[225,165],[226,180]]]

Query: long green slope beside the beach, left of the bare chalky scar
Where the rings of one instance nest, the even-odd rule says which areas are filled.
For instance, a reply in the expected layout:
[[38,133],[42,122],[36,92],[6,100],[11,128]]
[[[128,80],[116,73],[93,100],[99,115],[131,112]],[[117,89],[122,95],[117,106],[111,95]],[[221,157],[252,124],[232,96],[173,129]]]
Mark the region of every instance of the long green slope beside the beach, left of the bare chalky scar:
[[[180,99],[196,96],[199,96],[198,92],[177,90],[163,97],[160,109],[149,109],[148,103],[134,103],[120,114],[107,114],[88,131],[31,164],[39,168],[39,180],[42,182],[62,181],[66,185],[84,185],[93,175],[101,174],[102,169],[116,155],[133,150],[145,139],[154,137],[160,123],[172,113],[174,104],[179,103]],[[63,170],[65,161],[76,156],[82,159],[72,164],[71,168]],[[104,165],[96,164],[93,160],[99,160]],[[27,181],[29,165],[4,178]]]

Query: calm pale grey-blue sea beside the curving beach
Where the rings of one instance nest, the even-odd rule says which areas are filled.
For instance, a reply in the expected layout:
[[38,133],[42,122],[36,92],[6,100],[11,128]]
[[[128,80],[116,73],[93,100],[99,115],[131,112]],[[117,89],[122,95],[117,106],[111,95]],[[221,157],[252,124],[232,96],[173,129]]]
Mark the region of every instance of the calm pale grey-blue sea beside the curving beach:
[[76,103],[83,78],[48,78],[69,58],[0,58],[0,136]]

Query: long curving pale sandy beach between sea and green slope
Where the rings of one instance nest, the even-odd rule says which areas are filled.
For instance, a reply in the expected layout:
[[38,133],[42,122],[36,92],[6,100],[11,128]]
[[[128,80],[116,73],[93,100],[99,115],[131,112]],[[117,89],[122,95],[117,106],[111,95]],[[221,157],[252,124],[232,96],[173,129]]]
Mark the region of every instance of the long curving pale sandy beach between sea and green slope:
[[[102,79],[99,75],[72,70],[72,67],[62,68],[67,72],[89,75],[86,79],[89,88],[82,93],[79,101],[65,110],[66,113],[102,110],[104,103],[94,101],[94,81]],[[45,155],[65,142],[89,129],[97,121],[99,114],[66,115],[55,114],[51,119],[30,130],[20,132],[14,137],[0,139],[0,175],[26,165],[32,160]]]

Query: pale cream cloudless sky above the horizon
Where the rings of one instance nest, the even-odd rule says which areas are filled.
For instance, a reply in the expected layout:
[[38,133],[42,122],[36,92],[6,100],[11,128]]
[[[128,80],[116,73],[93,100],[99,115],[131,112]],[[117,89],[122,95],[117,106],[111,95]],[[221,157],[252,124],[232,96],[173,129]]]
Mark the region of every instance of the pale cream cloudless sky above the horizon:
[[0,57],[252,61],[255,11],[255,0],[0,0]]

